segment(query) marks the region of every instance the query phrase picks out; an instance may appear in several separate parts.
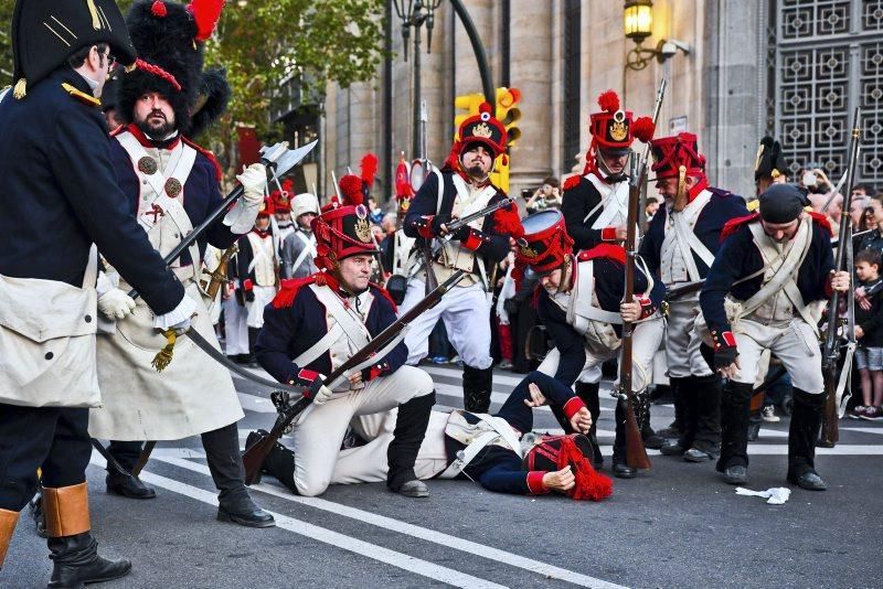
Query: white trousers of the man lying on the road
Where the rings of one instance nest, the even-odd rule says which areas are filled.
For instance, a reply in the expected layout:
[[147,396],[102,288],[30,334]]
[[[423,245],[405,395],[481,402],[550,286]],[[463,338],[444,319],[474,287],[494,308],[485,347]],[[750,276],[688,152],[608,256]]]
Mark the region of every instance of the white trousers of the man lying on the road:
[[[365,440],[360,448],[341,450],[331,474],[331,484],[382,483],[390,468],[386,449],[393,441],[397,409],[385,414],[360,416],[353,419],[353,429]],[[414,463],[417,479],[432,479],[448,467],[445,452],[445,426],[450,414],[433,411],[429,426]]]

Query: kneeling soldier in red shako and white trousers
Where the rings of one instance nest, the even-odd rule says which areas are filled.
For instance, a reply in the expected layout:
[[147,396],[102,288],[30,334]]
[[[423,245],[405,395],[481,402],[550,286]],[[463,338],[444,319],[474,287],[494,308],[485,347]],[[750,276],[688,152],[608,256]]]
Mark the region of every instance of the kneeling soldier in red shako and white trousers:
[[[389,293],[369,281],[379,250],[368,208],[359,191],[343,194],[358,200],[340,203],[333,197],[312,221],[316,265],[321,271],[284,281],[266,307],[257,361],[280,383],[310,385],[320,375],[331,374],[395,322],[396,309]],[[428,496],[414,463],[435,405],[433,379],[405,365],[407,346],[402,341],[377,356],[333,390],[322,386],[295,422],[294,452],[278,445],[267,457],[264,468],[295,493],[319,495],[352,469],[376,462],[377,468],[389,464],[386,485],[391,491]],[[375,414],[395,408],[398,418],[386,451],[377,453],[376,445],[369,445],[341,452],[351,424],[359,428],[363,421],[376,421]],[[253,432],[246,446],[265,433]]]

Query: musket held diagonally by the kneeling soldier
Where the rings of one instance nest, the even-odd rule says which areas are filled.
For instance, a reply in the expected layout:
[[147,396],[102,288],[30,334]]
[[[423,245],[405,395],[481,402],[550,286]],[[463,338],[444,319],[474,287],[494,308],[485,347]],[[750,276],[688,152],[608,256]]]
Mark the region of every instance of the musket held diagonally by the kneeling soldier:
[[281,409],[279,411],[279,416],[276,418],[276,422],[273,425],[269,435],[246,448],[245,452],[243,452],[242,461],[245,465],[245,484],[252,484],[259,479],[260,467],[264,464],[264,460],[267,458],[269,451],[276,446],[276,441],[278,441],[285,429],[297,416],[312,403],[316,393],[318,393],[322,386],[333,389],[339,383],[349,377],[353,370],[363,365],[371,356],[393,343],[394,340],[401,341],[402,332],[423,312],[438,304],[442,297],[454,288],[466,274],[465,270],[457,270],[454,272],[450,278],[436,287],[426,298],[373,338],[368,345],[359,350],[337,370],[332,371],[327,378],[316,378],[309,388],[300,389],[300,398],[288,409]]

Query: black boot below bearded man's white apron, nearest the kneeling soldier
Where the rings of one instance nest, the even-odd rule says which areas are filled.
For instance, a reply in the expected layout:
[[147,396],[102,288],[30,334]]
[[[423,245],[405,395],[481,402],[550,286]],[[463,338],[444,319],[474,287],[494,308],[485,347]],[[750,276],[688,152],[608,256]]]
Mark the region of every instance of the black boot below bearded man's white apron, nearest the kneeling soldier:
[[276,525],[270,514],[254,504],[245,489],[236,424],[203,433],[202,447],[205,449],[212,480],[221,491],[217,496],[217,518],[248,527]]

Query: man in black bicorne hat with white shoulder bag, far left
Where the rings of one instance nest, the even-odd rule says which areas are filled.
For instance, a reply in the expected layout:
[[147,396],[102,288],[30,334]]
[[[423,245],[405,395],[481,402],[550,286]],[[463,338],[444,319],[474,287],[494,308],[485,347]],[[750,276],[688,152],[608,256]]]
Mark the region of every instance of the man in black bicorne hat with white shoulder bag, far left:
[[89,533],[88,407],[102,401],[92,245],[158,324],[187,329],[193,308],[110,163],[96,96],[114,58],[136,60],[119,9],[19,0],[12,46],[14,89],[0,98],[0,566],[42,465],[50,587],[82,587],[131,568],[98,556]]

